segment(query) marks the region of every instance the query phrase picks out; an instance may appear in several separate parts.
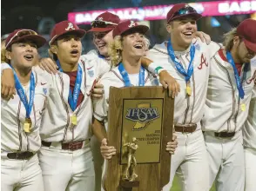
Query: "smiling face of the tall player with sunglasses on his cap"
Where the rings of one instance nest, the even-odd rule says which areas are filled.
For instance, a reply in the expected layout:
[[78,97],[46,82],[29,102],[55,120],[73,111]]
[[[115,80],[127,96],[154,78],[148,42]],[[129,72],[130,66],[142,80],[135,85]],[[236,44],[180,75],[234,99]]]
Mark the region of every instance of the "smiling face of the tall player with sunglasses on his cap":
[[195,37],[197,23],[195,19],[185,17],[167,24],[166,30],[171,34],[172,41],[178,43],[179,46],[189,46]]

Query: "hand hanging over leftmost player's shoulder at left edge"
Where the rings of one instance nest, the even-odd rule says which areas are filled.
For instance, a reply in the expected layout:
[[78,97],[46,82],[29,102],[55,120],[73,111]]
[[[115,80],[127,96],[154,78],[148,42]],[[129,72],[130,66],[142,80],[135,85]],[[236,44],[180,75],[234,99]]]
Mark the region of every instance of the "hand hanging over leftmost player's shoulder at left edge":
[[16,95],[15,81],[12,69],[3,69],[1,77],[1,96],[4,100],[9,101]]

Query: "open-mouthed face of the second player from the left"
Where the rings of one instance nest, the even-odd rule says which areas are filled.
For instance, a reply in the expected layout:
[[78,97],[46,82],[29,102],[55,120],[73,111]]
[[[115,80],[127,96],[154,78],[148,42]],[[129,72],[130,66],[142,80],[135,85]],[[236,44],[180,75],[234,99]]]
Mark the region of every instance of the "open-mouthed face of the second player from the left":
[[81,37],[67,34],[57,38],[51,51],[57,55],[60,63],[77,64],[82,52]]

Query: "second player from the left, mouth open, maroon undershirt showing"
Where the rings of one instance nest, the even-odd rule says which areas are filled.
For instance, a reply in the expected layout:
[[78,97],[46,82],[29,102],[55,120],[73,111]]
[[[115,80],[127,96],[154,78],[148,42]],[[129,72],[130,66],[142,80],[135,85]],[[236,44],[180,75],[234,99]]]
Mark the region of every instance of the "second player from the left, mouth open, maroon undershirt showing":
[[[81,56],[81,37],[76,24],[57,23],[51,32],[51,53],[58,64],[57,74],[37,67],[50,84],[40,128],[39,152],[45,190],[94,190],[95,177],[90,148],[91,89],[104,63]],[[105,72],[105,71],[104,71]]]

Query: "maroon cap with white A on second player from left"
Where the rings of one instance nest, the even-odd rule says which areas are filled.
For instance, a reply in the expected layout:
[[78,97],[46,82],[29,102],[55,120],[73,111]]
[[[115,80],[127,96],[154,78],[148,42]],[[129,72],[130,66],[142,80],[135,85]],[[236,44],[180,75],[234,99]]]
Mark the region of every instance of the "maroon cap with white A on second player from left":
[[67,33],[76,34],[79,37],[83,37],[86,33],[85,30],[79,29],[76,23],[70,21],[62,21],[54,25],[53,30],[51,30],[51,44],[57,39],[58,36],[62,36]]

